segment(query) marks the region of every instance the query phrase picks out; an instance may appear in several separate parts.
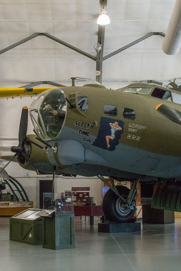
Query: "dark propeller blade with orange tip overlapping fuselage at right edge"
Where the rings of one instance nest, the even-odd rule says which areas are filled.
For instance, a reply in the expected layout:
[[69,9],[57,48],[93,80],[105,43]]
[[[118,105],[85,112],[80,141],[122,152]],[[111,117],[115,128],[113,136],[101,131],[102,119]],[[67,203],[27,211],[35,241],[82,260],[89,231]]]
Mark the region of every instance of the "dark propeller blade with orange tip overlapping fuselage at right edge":
[[156,110],[161,113],[162,115],[164,115],[165,117],[167,117],[169,120],[172,120],[178,124],[181,124],[181,112],[170,107],[167,106],[165,104],[158,104],[156,107]]

